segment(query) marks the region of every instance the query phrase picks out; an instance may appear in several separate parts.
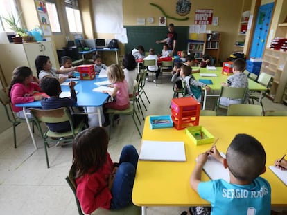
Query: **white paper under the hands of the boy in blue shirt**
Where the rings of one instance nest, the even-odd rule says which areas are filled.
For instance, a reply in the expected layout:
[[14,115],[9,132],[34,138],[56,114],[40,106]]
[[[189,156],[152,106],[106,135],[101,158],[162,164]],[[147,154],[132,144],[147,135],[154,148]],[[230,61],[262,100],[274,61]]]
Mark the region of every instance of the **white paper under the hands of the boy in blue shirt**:
[[[220,152],[220,155],[223,156],[223,158],[226,157],[223,152]],[[225,169],[223,164],[212,156],[208,156],[207,162],[203,166],[203,170],[211,180],[223,179],[227,182],[230,180],[228,169]]]

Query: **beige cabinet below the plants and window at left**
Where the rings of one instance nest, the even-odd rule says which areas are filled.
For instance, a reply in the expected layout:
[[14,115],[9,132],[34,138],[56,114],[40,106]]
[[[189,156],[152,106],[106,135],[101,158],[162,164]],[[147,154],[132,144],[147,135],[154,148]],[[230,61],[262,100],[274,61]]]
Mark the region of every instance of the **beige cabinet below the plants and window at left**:
[[0,44],[0,65],[7,84],[10,84],[12,72],[17,66],[28,66],[37,76],[35,59],[38,55],[50,57],[53,67],[56,67],[51,41],[26,44]]

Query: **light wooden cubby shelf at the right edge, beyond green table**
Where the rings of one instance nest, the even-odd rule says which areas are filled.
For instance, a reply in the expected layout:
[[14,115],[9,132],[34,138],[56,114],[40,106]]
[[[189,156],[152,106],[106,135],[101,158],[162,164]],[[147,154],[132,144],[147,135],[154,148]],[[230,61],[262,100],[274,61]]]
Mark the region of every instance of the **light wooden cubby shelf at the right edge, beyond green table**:
[[260,73],[268,73],[273,77],[268,92],[273,102],[287,102],[287,53],[266,48]]

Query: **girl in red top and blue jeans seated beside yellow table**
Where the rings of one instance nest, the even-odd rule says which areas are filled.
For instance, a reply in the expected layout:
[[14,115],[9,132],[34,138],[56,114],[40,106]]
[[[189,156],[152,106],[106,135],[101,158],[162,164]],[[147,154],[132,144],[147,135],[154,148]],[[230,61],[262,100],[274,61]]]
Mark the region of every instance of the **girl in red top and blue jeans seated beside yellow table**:
[[103,127],[91,127],[73,140],[76,196],[85,214],[99,207],[121,209],[132,204],[132,187],[139,155],[132,145],[121,151],[119,163],[107,151],[109,137]]

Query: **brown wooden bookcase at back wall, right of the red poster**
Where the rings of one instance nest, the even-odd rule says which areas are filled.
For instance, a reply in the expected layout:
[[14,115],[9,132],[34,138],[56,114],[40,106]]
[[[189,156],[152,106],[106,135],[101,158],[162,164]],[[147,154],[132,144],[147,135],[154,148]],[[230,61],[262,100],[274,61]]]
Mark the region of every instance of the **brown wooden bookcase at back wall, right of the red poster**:
[[219,62],[220,33],[205,34],[205,54],[211,57],[211,65],[216,66]]

